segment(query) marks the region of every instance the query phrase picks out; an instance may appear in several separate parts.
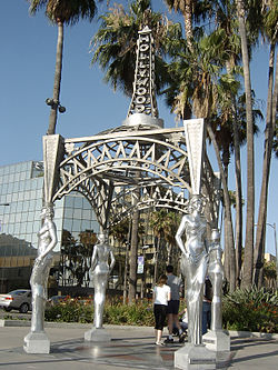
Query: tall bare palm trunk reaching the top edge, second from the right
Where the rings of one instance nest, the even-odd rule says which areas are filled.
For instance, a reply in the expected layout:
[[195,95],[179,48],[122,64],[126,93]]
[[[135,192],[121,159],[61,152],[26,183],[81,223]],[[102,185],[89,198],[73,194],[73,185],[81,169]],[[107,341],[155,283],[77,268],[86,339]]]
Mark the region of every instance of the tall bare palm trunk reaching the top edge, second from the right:
[[251,81],[245,26],[245,9],[242,0],[237,0],[239,33],[241,39],[241,53],[246,93],[246,121],[247,121],[247,209],[246,209],[246,240],[242,288],[252,284],[254,270],[254,211],[255,211],[255,180],[254,180],[254,122]]

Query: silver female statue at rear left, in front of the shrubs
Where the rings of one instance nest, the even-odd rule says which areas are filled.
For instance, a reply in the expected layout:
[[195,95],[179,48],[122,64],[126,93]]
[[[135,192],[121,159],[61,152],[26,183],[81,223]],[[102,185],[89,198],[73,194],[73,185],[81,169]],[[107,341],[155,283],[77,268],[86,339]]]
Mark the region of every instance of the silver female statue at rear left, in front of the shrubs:
[[[95,246],[91,259],[91,273],[95,287],[95,318],[93,326],[97,329],[102,328],[103,308],[106,301],[106,287],[110,272],[115,266],[113,252],[108,244],[106,233],[100,233],[98,237],[99,243]],[[110,264],[109,264],[110,258]]]

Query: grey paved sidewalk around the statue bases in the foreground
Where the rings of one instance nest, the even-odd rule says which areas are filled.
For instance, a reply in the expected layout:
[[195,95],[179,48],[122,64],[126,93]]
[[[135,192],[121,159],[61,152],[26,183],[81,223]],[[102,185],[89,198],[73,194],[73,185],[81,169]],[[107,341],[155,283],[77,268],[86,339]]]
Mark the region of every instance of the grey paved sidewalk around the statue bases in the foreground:
[[[176,342],[169,347],[155,346],[152,328],[106,326],[112,340],[99,346],[83,341],[85,331],[90,328],[90,324],[46,322],[51,352],[29,354],[22,348],[29,327],[1,327],[0,370],[175,369],[173,353],[182,344]],[[278,369],[277,336],[275,339],[265,339],[239,338],[231,334],[231,351],[219,353],[217,359],[217,369],[259,370],[261,368]]]

